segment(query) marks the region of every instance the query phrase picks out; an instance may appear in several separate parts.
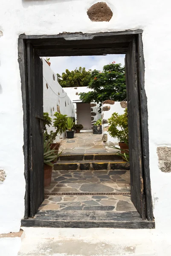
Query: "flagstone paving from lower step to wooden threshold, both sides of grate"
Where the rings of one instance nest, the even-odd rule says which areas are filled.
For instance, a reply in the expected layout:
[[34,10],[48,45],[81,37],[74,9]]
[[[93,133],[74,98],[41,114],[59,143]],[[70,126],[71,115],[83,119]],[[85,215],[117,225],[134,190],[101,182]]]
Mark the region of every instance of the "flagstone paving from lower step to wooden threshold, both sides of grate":
[[[130,192],[127,170],[53,171],[45,193]],[[130,195],[45,195],[40,210],[135,211]]]

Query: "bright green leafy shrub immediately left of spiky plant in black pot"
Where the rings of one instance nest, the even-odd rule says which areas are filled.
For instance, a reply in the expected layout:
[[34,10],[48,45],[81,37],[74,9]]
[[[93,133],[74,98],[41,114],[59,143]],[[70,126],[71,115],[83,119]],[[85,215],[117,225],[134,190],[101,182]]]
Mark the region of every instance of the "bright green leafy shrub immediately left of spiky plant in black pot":
[[67,115],[62,115],[59,112],[54,113],[55,118],[53,119],[53,127],[56,128],[56,135],[58,133],[62,134],[66,130],[67,125]]

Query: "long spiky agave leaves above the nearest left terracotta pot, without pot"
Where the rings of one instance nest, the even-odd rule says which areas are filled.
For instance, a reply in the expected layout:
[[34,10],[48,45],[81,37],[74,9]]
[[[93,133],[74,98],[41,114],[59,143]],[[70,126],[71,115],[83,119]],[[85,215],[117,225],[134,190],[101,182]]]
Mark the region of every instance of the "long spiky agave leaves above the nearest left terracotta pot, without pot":
[[43,134],[43,143],[44,143],[44,164],[47,164],[49,166],[54,166],[52,162],[56,161],[62,151],[58,153],[57,150],[50,149],[50,145],[52,143],[52,139],[46,140],[46,133]]

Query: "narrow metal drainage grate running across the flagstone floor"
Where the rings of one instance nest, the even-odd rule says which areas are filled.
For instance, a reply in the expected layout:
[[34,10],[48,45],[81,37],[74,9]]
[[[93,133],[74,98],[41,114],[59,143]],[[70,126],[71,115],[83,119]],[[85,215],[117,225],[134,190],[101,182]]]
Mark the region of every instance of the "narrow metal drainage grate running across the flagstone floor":
[[44,193],[44,195],[130,195],[130,192],[57,192],[57,193]]

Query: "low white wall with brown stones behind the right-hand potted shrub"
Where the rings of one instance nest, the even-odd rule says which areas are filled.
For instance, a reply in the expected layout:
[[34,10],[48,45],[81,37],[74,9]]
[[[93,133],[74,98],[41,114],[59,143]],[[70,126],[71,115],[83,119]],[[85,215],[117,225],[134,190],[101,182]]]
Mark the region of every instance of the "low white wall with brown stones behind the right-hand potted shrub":
[[110,136],[108,132],[108,119],[116,112],[120,115],[124,113],[127,107],[127,102],[114,102],[112,100],[106,100],[102,104],[102,142],[105,147],[112,145],[118,145],[118,139]]

